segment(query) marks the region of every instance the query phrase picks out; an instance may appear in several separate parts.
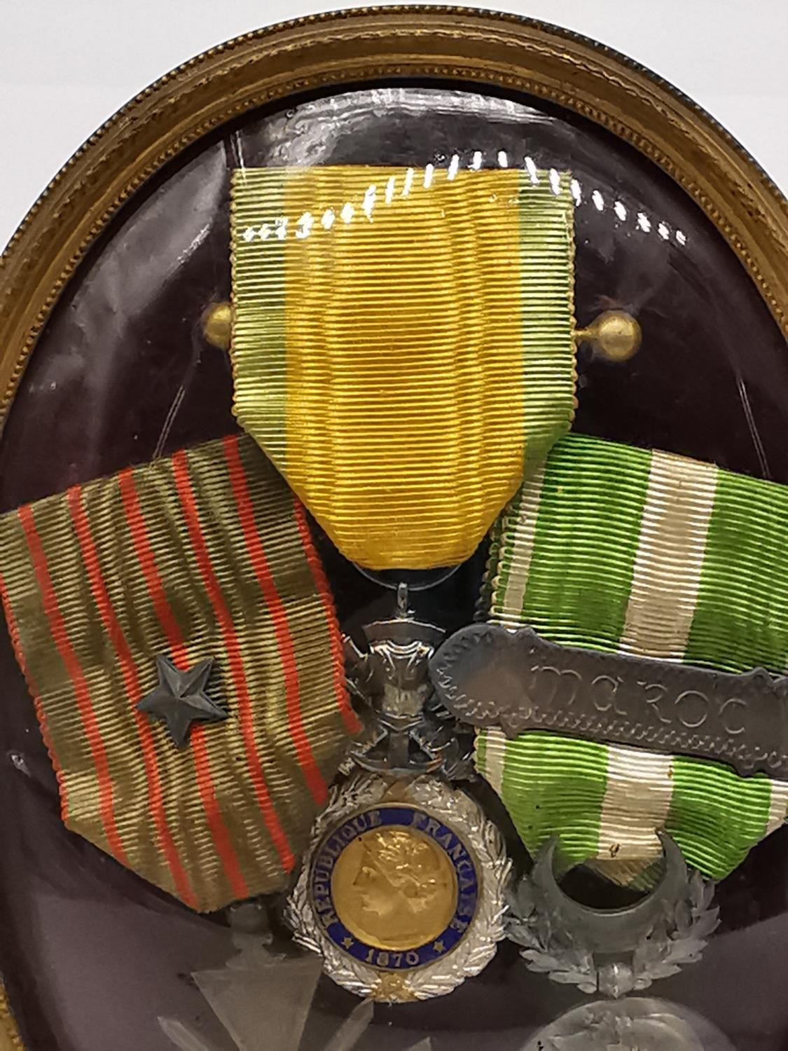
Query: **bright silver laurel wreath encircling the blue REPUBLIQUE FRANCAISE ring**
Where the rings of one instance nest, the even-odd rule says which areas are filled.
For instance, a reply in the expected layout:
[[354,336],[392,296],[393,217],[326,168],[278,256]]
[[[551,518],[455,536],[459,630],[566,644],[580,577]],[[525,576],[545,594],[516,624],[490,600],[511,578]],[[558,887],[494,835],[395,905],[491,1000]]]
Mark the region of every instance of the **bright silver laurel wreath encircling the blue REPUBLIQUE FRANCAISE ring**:
[[[312,846],[288,903],[287,918],[295,941],[320,953],[324,969],[334,982],[359,996],[374,995],[381,971],[354,960],[326,936],[312,908],[309,873],[314,851],[328,831],[349,815],[382,802],[391,788],[391,780],[361,774],[332,789],[328,806],[313,826]],[[416,778],[405,785],[402,796],[397,799],[422,806],[456,829],[473,850],[480,875],[476,915],[457,947],[434,964],[393,972],[402,980],[409,996],[428,1000],[442,996],[464,978],[478,974],[495,955],[497,944],[505,934],[505,891],[511,862],[497,826],[484,817],[474,800],[439,778]]]

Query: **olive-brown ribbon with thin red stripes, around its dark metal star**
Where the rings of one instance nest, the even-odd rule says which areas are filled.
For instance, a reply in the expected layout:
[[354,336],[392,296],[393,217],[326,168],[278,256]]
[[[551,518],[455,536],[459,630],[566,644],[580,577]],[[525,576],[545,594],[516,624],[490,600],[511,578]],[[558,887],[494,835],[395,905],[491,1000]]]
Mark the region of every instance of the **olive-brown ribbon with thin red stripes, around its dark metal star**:
[[[282,888],[357,724],[304,511],[254,442],[20,508],[0,551],[68,828],[201,911]],[[229,719],[184,750],[136,709],[158,654],[216,662]]]

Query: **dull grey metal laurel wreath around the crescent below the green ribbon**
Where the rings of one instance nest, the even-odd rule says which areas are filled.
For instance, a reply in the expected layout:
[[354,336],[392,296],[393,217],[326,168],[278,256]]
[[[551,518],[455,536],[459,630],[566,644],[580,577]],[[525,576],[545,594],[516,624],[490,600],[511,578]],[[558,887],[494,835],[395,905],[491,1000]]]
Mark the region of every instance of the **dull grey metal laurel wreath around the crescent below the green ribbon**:
[[528,970],[547,974],[554,982],[576,985],[583,992],[623,996],[647,989],[658,978],[677,974],[701,957],[708,936],[718,927],[719,909],[711,907],[714,885],[693,871],[686,894],[672,903],[630,961],[597,964],[594,951],[566,929],[560,918],[539,907],[538,895],[526,879],[510,894],[507,934],[523,946]]

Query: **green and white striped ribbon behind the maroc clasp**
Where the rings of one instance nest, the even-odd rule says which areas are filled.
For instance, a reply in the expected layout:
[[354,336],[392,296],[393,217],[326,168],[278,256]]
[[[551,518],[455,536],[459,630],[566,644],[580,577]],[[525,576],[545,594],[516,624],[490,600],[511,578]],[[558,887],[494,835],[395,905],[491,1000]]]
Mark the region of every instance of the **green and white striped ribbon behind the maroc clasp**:
[[[501,515],[482,613],[573,646],[728,672],[788,662],[788,487],[572,434]],[[533,853],[637,882],[664,827],[721,879],[786,818],[788,784],[645,749],[479,735],[479,771]]]

